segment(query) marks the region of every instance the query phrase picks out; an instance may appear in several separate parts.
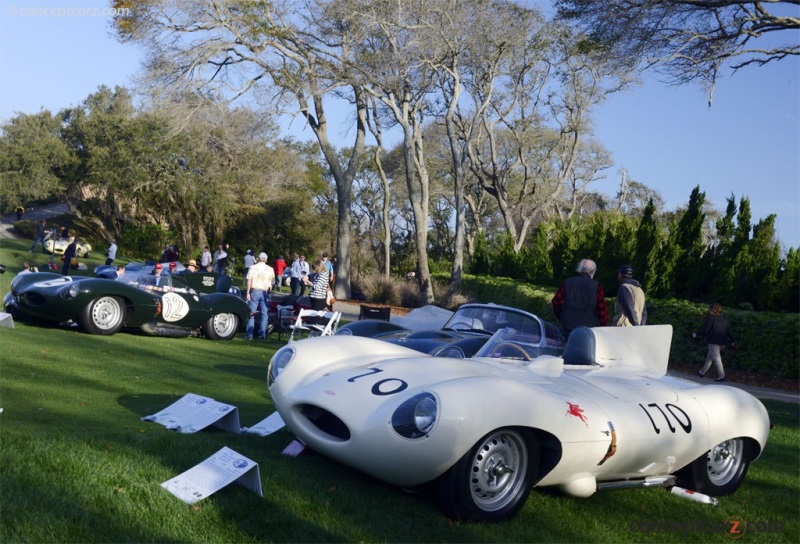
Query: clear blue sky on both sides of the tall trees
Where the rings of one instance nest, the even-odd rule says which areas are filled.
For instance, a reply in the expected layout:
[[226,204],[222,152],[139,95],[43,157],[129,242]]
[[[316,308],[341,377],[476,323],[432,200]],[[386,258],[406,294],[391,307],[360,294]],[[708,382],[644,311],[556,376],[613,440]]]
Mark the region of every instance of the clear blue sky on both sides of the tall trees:
[[[131,85],[142,52],[116,42],[107,16],[86,10],[107,6],[104,0],[0,1],[0,119],[74,106],[103,84]],[[49,7],[62,11],[34,11]],[[698,87],[646,77],[603,104],[595,125],[616,162],[595,190],[613,195],[625,168],[661,193],[668,209],[684,206],[698,184],[721,211],[729,195],[746,196],[754,223],[776,214],[783,247],[800,248],[800,59],[724,77],[711,108]],[[295,136],[312,137],[307,129],[299,132],[299,120],[292,127]]]

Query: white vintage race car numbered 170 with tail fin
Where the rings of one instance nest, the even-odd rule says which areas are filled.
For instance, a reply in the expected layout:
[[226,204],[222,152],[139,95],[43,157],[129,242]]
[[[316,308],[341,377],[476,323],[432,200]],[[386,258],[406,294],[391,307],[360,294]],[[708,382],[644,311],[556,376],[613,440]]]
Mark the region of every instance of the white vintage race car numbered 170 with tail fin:
[[580,328],[562,356],[498,330],[470,359],[363,337],[281,348],[269,390],[317,452],[390,484],[431,485],[455,519],[513,516],[533,487],[733,493],[769,433],[740,389],[666,375],[672,327]]

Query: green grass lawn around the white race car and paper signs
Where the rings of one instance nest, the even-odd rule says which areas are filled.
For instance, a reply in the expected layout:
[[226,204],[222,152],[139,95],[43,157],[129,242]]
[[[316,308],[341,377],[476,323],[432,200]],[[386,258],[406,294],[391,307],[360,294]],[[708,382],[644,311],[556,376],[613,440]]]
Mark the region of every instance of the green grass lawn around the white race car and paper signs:
[[[3,243],[8,266],[16,250]],[[742,542],[800,541],[797,405],[766,403],[776,425],[766,450],[716,508],[663,489],[535,491],[500,524],[454,523],[424,493],[319,455],[286,457],[286,431],[182,435],[141,421],[191,392],[257,423],[274,411],[266,370],[278,347],[0,329],[0,542],[725,542],[733,517],[749,524]],[[223,446],[259,464],[263,498],[234,484],[188,506],[160,487]],[[782,530],[759,533],[759,521]]]

